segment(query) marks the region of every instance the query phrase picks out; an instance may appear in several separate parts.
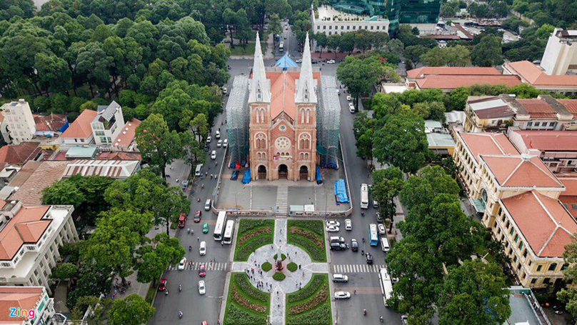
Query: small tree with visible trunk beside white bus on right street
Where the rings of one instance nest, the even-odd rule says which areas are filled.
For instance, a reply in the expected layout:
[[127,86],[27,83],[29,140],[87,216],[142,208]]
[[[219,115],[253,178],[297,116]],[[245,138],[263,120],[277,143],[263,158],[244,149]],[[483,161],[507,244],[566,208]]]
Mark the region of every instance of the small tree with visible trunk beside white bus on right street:
[[378,201],[378,208],[383,217],[391,221],[388,227],[389,234],[393,231],[393,217],[396,214],[395,197],[403,188],[403,183],[403,172],[396,167],[373,172],[371,195]]

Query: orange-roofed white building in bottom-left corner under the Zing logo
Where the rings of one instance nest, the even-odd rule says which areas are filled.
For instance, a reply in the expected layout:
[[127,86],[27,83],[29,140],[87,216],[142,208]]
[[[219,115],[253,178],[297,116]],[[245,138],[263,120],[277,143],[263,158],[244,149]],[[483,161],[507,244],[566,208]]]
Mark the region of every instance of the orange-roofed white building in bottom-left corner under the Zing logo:
[[[0,305],[5,311],[0,314],[1,324],[51,324],[49,321],[54,317],[54,299],[43,286],[2,286]],[[20,308],[15,311],[19,316],[10,316],[10,308]],[[34,311],[34,315],[30,311]]]

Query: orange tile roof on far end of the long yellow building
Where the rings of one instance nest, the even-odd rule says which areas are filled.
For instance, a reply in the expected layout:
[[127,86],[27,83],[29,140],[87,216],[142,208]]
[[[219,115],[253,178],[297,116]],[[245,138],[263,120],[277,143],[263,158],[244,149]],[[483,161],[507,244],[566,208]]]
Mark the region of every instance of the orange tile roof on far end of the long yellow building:
[[465,146],[471,151],[478,162],[478,156],[491,155],[517,155],[519,151],[511,144],[505,134],[502,133],[459,133]]

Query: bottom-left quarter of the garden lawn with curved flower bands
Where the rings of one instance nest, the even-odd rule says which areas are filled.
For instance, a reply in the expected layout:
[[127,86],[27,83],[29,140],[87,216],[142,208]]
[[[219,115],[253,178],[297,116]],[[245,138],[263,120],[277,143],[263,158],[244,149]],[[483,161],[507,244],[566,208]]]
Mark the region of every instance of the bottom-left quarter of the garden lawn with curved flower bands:
[[270,301],[271,294],[256,289],[244,272],[232,273],[224,324],[266,324]]

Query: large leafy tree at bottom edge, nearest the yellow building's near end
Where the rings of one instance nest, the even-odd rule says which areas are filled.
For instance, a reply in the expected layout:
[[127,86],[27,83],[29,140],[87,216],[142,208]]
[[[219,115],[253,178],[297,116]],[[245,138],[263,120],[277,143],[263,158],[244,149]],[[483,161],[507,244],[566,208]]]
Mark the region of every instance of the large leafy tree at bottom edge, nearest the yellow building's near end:
[[511,315],[501,266],[480,259],[448,269],[438,299],[440,324],[504,324]]

